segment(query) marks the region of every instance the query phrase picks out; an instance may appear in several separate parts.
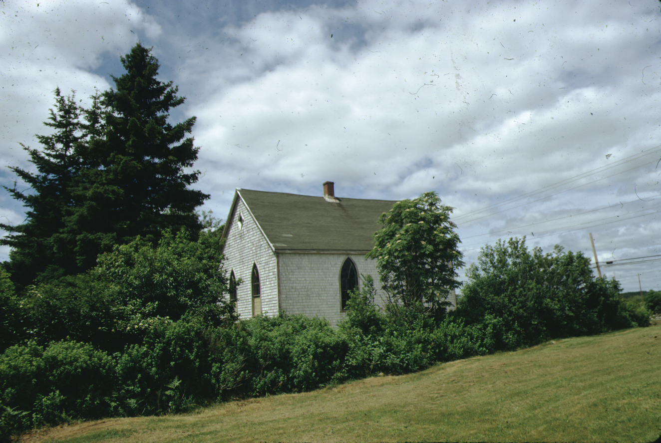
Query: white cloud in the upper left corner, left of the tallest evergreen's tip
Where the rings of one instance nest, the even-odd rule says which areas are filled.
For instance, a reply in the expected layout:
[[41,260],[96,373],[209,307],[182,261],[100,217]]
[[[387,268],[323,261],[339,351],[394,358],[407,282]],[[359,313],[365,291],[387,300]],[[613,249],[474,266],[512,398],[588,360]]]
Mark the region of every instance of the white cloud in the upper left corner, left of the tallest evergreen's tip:
[[3,2],[0,15],[0,73],[3,125],[0,166],[26,164],[19,143],[36,147],[32,137],[54,104],[54,89],[71,90],[83,101],[97,87],[110,85],[92,73],[107,53],[119,57],[137,41],[136,32],[155,38],[153,18],[130,1],[89,0]]

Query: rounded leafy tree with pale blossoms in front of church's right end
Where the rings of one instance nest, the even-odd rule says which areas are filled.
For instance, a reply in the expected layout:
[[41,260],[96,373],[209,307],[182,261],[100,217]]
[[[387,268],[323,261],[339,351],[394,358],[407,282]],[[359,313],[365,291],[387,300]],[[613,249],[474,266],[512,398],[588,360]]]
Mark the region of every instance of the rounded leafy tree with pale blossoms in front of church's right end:
[[376,259],[393,306],[445,312],[448,291],[461,285],[455,269],[463,266],[451,211],[435,192],[425,192],[381,215],[383,228],[374,234],[375,246],[366,257]]

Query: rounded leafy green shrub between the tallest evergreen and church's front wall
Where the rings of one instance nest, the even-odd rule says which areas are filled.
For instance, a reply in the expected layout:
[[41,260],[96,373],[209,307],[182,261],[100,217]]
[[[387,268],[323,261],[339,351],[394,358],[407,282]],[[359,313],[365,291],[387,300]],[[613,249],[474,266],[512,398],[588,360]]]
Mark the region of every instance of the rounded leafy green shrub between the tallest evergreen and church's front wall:
[[136,238],[98,257],[91,276],[104,283],[126,322],[147,318],[178,320],[189,310],[219,304],[223,316],[235,320],[225,275],[219,271],[221,254],[206,236],[193,242],[182,230],[163,234],[157,247]]

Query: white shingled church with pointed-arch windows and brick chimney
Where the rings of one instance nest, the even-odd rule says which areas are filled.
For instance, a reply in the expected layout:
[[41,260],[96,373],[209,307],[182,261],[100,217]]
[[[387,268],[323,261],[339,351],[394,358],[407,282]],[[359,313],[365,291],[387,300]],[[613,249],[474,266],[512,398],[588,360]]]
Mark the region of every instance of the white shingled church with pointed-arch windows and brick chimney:
[[362,285],[360,275],[371,275],[375,303],[385,306],[376,263],[365,254],[379,217],[396,202],[338,198],[332,182],[323,191],[314,197],[236,190],[222,238],[239,318],[285,311],[336,325],[348,292]]

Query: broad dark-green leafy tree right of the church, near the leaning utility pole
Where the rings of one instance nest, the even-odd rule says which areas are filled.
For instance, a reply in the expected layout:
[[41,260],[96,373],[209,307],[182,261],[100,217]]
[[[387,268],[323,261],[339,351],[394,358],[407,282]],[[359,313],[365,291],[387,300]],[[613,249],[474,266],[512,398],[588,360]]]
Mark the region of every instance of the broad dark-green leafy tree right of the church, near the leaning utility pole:
[[455,315],[490,327],[496,349],[644,325],[621,301],[615,279],[594,277],[588,257],[561,246],[543,254],[529,251],[525,237],[498,240],[466,275]]

